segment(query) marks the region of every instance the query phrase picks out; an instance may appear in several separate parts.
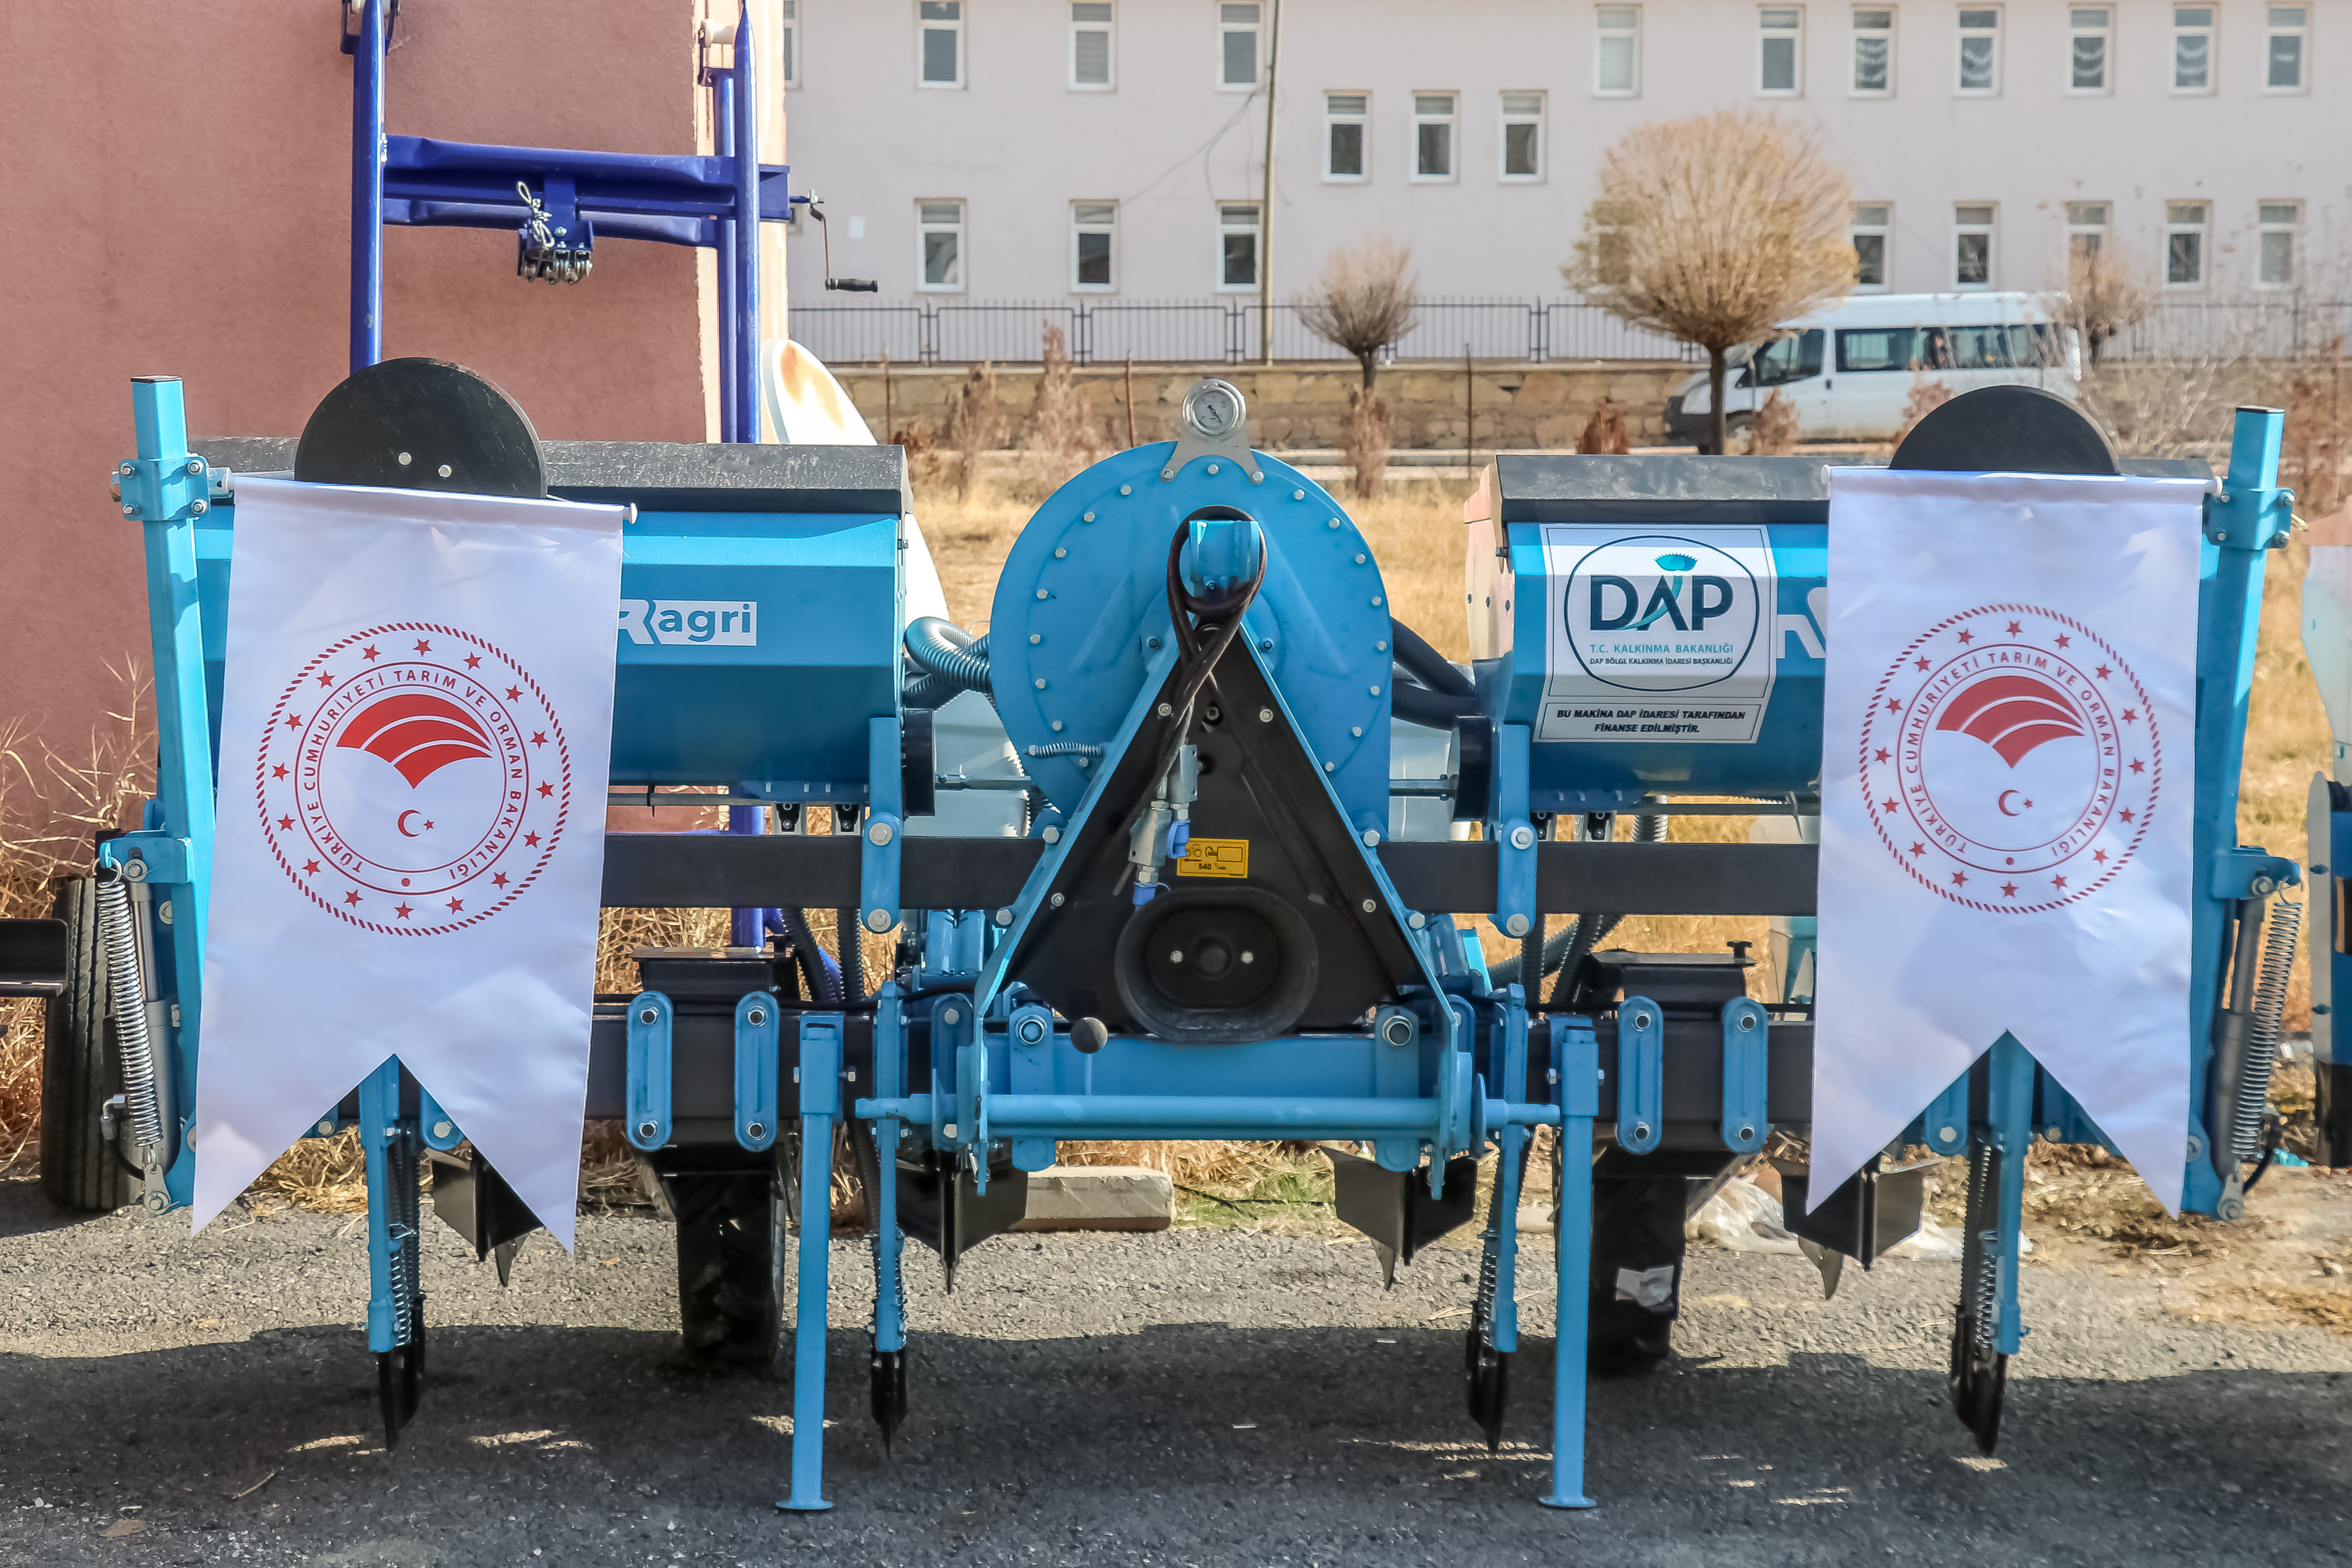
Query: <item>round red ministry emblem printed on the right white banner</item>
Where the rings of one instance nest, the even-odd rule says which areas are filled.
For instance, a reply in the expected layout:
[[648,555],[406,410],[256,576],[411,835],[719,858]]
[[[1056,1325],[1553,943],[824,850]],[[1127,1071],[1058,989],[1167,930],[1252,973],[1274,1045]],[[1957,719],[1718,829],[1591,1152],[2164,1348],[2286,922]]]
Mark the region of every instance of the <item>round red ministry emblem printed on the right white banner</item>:
[[2147,689],[2098,632],[2032,604],[1950,616],[1903,649],[1858,762],[1886,851],[1943,898],[2002,914],[2105,886],[2164,783]]

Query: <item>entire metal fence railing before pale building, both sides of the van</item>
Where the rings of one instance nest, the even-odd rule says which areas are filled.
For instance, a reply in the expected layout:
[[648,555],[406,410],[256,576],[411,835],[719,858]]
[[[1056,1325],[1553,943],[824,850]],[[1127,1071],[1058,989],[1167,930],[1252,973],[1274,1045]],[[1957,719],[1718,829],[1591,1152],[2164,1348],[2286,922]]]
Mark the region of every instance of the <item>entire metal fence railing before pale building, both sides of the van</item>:
[[[1044,327],[1061,327],[1075,364],[1174,360],[1247,364],[1258,357],[1256,296],[1174,301],[1011,301],[960,294],[908,301],[795,306],[793,339],[828,364],[1035,364]],[[2105,343],[2103,360],[2260,357],[2326,353],[2352,339],[2352,301],[2164,301]],[[1682,360],[1705,355],[1569,299],[1425,299],[1414,329],[1383,350],[1397,360]],[[1345,360],[1275,306],[1277,360]]]

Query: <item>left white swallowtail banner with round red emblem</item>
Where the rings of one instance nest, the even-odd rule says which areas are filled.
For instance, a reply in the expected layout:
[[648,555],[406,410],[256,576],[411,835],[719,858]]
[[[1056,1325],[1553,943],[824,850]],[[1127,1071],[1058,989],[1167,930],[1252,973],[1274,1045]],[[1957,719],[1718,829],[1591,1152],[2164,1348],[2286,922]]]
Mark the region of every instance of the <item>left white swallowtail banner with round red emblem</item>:
[[238,480],[198,1225],[397,1056],[572,1246],[621,515]]

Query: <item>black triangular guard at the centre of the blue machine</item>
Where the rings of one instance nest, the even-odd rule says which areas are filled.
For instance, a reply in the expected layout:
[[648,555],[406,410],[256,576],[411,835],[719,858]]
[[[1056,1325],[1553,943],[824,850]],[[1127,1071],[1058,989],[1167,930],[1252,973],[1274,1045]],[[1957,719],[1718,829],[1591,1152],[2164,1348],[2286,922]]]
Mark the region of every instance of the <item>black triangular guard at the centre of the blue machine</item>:
[[[1131,917],[1152,910],[1134,905],[1127,842],[1134,813],[1157,788],[1155,769],[1176,722],[1176,682],[1178,668],[1169,665],[1157,693],[1138,696],[1141,717],[1131,717],[1127,743],[1105,759],[1110,773],[1065,830],[1063,844],[1049,851],[1040,877],[1023,889],[1021,922],[990,964],[995,976],[1018,976],[1051,997],[1063,1016],[1101,1018],[1112,1032],[1148,1027],[1120,985],[1120,938]],[[1171,712],[1162,715],[1162,705]],[[1345,1030],[1406,985],[1435,990],[1437,980],[1404,929],[1388,877],[1341,813],[1322,764],[1308,752],[1247,637],[1235,639],[1202,689],[1200,715],[1207,719],[1211,708],[1218,717],[1197,733],[1202,776],[1192,839],[1247,842],[1249,877],[1178,877],[1171,863],[1162,867],[1169,891],[1155,903],[1178,898],[1209,910],[1249,898],[1279,900],[1303,922],[1315,971],[1287,1027],[1237,1037]],[[1270,717],[1261,719],[1261,712]],[[1202,1020],[1171,1037],[1218,1039],[1209,1013],[1202,1009]],[[1157,1032],[1169,1027],[1162,1018]]]

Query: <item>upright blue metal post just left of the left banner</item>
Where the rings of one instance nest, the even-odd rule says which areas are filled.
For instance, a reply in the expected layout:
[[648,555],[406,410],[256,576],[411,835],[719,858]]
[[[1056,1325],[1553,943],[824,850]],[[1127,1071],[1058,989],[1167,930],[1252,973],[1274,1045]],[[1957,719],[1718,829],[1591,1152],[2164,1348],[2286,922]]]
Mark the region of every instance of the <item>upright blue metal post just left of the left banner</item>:
[[[205,917],[212,910],[212,717],[205,705],[205,628],[195,599],[195,517],[205,498],[205,465],[188,454],[188,418],[174,376],[132,381],[136,463],[125,468],[122,510],[139,520],[146,543],[148,656],[155,661],[155,802],[162,827],[186,842],[186,882],[155,889],[174,900],[169,959],[160,978],[179,999],[179,1041],[188,1051],[200,1039],[205,999]],[[183,1060],[193,1074],[195,1065]],[[176,1143],[179,1128],[165,1128]],[[186,1204],[195,1166],[165,1152],[165,1178],[174,1204]]]

